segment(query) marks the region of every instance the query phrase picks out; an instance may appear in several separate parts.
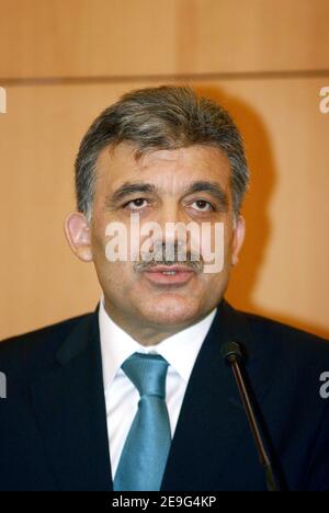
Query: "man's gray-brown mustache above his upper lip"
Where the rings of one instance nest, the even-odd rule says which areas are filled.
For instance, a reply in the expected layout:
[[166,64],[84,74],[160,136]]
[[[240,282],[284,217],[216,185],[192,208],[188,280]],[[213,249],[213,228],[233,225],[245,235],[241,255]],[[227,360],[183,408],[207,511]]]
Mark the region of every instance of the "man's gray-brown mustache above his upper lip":
[[155,243],[154,251],[140,254],[140,260],[134,263],[134,271],[148,271],[156,265],[185,265],[200,274],[204,269],[204,262],[198,253],[186,251],[180,243]]

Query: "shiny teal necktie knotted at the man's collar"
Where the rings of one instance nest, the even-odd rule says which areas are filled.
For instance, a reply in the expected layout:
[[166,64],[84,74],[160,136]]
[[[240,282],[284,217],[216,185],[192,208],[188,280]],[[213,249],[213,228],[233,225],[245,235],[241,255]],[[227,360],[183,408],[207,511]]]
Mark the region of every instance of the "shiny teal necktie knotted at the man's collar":
[[157,354],[135,353],[122,366],[139,392],[138,411],[127,435],[114,491],[158,491],[170,449],[166,404],[168,362]]

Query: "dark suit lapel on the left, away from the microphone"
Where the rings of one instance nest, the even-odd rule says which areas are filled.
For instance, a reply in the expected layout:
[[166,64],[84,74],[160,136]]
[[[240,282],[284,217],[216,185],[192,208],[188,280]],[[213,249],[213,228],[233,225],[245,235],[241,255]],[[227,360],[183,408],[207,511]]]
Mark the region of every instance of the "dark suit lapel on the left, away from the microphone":
[[57,354],[58,367],[32,386],[37,424],[60,490],[111,490],[111,464],[97,312]]

